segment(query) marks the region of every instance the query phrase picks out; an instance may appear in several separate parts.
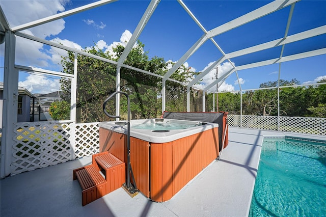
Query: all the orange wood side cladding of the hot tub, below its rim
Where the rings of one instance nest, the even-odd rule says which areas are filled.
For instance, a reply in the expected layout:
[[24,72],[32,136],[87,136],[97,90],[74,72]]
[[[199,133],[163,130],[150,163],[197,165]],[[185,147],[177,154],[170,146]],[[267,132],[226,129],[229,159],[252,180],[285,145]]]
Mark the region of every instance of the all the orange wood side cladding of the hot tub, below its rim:
[[[100,150],[114,154],[127,168],[126,143],[126,135],[100,128]],[[130,161],[137,187],[153,201],[170,200],[218,156],[218,143],[218,128],[169,143],[152,143],[150,147],[148,142],[130,137]]]

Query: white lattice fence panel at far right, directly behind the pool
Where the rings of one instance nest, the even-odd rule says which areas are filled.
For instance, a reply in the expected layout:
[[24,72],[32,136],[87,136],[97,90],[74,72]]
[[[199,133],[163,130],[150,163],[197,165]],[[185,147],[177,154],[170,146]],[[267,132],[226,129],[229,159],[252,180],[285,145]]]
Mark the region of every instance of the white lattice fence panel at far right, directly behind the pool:
[[280,131],[326,135],[326,118],[280,117]]

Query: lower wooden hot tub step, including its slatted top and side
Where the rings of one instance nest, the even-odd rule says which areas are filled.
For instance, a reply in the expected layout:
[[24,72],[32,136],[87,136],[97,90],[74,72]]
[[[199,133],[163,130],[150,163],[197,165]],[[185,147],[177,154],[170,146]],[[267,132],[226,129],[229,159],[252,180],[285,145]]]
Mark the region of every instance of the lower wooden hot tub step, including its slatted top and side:
[[83,206],[107,194],[106,180],[95,167],[91,166],[76,170],[75,176],[83,190]]

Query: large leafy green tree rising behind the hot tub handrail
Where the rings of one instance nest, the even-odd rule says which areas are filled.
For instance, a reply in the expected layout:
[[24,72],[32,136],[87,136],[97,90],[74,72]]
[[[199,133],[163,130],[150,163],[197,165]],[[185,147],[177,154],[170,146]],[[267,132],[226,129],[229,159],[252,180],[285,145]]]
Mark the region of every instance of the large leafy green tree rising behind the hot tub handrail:
[[[108,52],[103,52],[97,47],[91,47],[87,52],[109,60],[118,61],[124,51],[124,46],[118,45],[113,48],[116,56],[111,56]],[[149,60],[148,52],[144,51],[144,44],[138,41],[137,46],[129,52],[124,64],[137,67],[151,73],[164,75],[167,71],[167,63],[163,58],[153,57]],[[102,111],[102,103],[111,93],[116,91],[116,66],[108,62],[93,59],[87,56],[78,55],[77,68],[77,117],[79,122],[95,122],[109,120]],[[74,53],[69,52],[67,57],[63,57],[62,66],[65,73],[73,73]],[[157,98],[161,94],[161,78],[134,71],[130,68],[122,67],[120,90],[128,93],[130,97],[130,108],[132,119],[153,118],[160,111],[160,104]],[[186,82],[189,77],[193,77],[193,72],[185,70],[181,66],[171,78]],[[70,79],[61,79],[62,90],[70,96]],[[182,85],[174,83],[167,86],[167,90],[180,90]],[[175,95],[178,92],[174,92]],[[66,98],[69,101],[69,97]],[[126,118],[127,100],[120,97],[120,112],[122,118]],[[106,110],[115,114],[115,100],[107,103]],[[123,115],[124,113],[124,115]],[[160,114],[159,114],[160,115]]]

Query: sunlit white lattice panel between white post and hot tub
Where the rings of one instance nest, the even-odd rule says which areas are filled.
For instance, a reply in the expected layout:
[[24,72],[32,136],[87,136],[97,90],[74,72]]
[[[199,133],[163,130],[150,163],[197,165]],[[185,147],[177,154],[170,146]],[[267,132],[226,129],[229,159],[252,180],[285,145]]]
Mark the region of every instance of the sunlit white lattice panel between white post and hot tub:
[[75,125],[75,158],[90,156],[99,152],[99,126],[96,123]]

